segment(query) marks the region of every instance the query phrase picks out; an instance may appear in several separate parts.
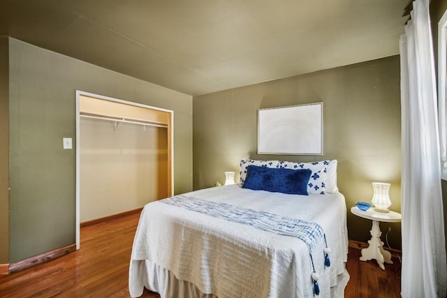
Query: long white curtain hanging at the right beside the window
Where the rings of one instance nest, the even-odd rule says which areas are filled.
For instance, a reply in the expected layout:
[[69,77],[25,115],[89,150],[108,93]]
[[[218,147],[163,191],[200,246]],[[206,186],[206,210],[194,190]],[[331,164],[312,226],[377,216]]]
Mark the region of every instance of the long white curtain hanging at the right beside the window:
[[437,92],[429,0],[413,1],[400,38],[402,297],[446,297]]

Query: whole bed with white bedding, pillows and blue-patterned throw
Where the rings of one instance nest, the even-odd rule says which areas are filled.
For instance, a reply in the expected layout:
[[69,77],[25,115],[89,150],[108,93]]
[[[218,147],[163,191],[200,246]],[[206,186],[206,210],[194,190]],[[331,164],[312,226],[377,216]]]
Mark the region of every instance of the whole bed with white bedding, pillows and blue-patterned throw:
[[[163,298],[343,297],[348,238],[336,167],[243,160],[239,184],[147,204],[133,242],[131,297],[144,288]],[[306,194],[281,177],[292,170]]]

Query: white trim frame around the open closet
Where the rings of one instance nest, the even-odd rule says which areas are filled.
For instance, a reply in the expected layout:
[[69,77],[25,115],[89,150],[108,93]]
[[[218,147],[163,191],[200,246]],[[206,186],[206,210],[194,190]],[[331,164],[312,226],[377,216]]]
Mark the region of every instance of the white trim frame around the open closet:
[[113,103],[122,103],[124,105],[132,105],[135,107],[143,107],[149,110],[155,110],[168,113],[168,195],[174,192],[174,111],[154,107],[151,105],[143,105],[128,100],[92,94],[85,91],[76,90],[76,250],[80,248],[80,98],[87,96],[97,98],[98,100],[108,100]]

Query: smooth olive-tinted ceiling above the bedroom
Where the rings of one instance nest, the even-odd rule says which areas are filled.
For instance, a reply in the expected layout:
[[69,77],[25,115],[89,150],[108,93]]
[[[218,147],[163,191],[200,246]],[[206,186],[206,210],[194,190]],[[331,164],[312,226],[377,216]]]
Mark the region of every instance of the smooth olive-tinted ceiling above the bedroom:
[[184,94],[399,52],[409,0],[0,0],[0,35]]

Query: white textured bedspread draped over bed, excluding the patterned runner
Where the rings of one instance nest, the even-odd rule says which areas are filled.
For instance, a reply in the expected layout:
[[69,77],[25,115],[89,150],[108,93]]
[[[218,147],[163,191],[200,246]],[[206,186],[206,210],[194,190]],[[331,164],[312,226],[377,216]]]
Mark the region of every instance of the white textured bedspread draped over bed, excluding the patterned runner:
[[[348,237],[342,194],[286,195],[240,186],[207,188],[184,194],[318,223],[331,248],[324,267],[324,241],[314,248],[320,297],[344,272]],[[161,202],[145,206],[133,242],[129,269],[132,297],[142,295],[144,260],[151,260],[203,293],[225,297],[314,297],[307,246],[293,237],[214,218]]]

